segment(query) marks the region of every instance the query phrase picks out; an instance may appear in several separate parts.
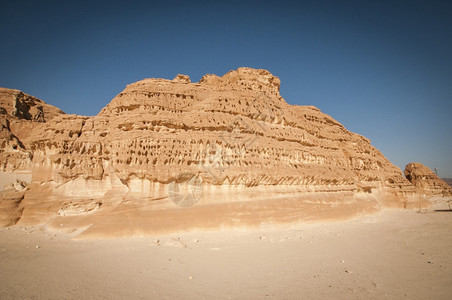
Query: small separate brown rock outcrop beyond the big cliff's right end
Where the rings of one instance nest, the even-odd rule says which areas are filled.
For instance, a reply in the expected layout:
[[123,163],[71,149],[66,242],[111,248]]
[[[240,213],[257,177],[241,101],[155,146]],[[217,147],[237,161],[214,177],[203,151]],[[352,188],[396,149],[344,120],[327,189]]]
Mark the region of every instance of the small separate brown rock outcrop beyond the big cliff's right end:
[[452,188],[421,163],[409,163],[405,167],[405,177],[421,194],[428,196],[452,195]]

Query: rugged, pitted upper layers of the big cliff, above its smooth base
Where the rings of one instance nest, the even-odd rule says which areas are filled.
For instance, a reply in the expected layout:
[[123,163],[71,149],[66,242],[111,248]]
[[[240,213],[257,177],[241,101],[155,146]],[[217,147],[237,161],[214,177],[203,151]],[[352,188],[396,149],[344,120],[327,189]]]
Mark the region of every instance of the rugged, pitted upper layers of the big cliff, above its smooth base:
[[46,124],[31,143],[50,158],[42,166],[58,170],[52,179],[170,183],[188,173],[213,185],[411,186],[364,137],[314,107],[288,105],[264,70],[145,79],[97,116],[77,118]]

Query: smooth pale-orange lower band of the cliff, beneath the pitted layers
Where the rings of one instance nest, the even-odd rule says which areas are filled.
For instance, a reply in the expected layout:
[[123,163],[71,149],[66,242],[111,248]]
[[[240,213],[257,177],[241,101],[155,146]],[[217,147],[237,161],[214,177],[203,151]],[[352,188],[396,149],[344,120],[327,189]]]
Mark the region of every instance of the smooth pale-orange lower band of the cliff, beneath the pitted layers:
[[162,184],[156,190],[159,192],[146,196],[116,187],[103,196],[93,191],[67,196],[64,186],[32,183],[25,191],[3,192],[1,226],[44,224],[49,230],[71,232],[77,238],[158,236],[341,221],[383,208],[423,211],[431,209],[432,203],[435,208],[447,208],[450,200],[431,202],[385,189],[358,192],[328,187],[207,186],[197,190]]

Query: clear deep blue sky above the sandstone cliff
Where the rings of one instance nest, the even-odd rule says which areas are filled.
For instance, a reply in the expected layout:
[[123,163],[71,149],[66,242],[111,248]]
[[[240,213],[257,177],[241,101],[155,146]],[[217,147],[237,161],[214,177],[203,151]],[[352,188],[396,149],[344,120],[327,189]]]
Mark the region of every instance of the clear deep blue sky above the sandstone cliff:
[[452,1],[2,1],[0,86],[95,115],[149,77],[267,69],[402,170],[452,177]]

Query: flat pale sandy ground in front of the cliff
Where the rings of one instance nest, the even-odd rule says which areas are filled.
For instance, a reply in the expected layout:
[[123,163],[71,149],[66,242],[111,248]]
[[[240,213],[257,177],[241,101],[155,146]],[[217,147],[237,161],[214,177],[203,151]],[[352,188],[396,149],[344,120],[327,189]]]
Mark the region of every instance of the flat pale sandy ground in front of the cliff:
[[15,226],[0,298],[451,299],[451,229],[451,212],[411,210],[130,239]]

